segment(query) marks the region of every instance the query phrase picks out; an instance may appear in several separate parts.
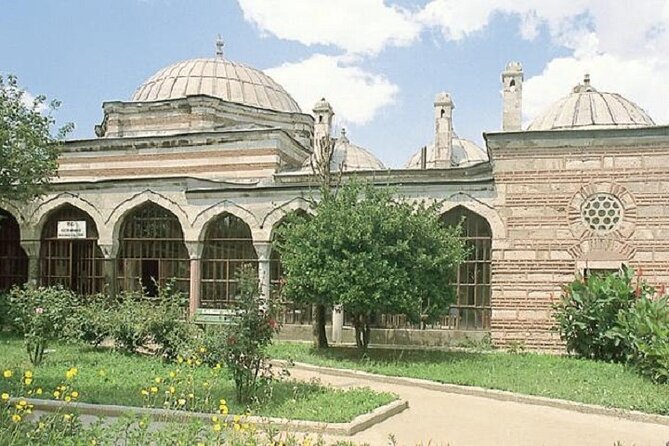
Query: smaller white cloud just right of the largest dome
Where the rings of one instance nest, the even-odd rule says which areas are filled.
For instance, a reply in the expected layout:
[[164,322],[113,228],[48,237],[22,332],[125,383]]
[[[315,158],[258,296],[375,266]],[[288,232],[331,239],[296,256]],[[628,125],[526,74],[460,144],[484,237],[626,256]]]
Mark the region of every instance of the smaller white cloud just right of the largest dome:
[[265,70],[310,112],[325,97],[342,124],[366,124],[385,106],[392,104],[397,85],[378,74],[350,65],[344,57],[315,54],[297,63]]

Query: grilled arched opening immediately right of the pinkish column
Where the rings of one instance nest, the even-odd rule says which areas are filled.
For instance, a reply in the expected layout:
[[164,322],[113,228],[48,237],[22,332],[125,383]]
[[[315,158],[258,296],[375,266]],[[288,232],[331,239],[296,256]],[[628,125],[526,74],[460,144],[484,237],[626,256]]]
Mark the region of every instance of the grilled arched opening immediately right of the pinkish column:
[[237,292],[237,273],[248,263],[258,265],[251,228],[228,213],[215,217],[208,224],[204,239],[201,306],[229,306]]

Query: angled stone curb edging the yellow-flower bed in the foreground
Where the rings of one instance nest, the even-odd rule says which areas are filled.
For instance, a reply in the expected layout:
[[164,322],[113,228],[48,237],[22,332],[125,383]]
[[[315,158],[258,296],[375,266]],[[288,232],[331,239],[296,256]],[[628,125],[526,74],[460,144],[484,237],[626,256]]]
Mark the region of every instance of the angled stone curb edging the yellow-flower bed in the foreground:
[[[127,414],[148,415],[155,421],[159,422],[187,421],[192,419],[199,419],[204,421],[211,420],[211,417],[214,415],[218,416],[221,421],[232,422],[234,420],[234,415],[227,415],[224,417],[222,415],[203,412],[185,412],[169,409],[117,406],[113,404],[90,404],[79,402],[66,403],[64,401],[42,400],[36,398],[10,399],[12,404],[15,404],[21,400],[26,401],[28,404],[32,404],[34,410],[41,410],[44,412],[57,412],[67,408],[67,410],[73,410],[80,414],[94,415],[99,417],[120,417]],[[368,429],[377,423],[387,420],[388,418],[392,417],[393,415],[397,415],[408,407],[409,403],[406,401],[392,401],[389,404],[377,407],[372,412],[358,415],[349,423],[326,423],[321,421],[291,420],[287,418],[269,418],[258,416],[243,417],[243,420],[248,424],[253,424],[256,426],[275,426],[285,431],[350,436]]]

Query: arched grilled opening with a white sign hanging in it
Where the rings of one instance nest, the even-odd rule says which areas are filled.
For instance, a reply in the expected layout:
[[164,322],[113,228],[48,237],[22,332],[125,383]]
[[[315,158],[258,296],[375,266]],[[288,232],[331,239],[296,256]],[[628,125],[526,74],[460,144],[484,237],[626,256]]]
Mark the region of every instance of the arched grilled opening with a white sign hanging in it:
[[104,285],[103,262],[98,228],[90,215],[70,204],[51,212],[40,244],[43,285],[60,284],[82,295],[99,293]]

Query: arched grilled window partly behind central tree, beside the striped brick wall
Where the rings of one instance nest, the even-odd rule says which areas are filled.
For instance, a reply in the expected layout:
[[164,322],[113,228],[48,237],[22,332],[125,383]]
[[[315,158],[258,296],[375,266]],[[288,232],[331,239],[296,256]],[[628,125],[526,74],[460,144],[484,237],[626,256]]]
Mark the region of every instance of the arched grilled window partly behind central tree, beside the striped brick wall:
[[456,279],[457,302],[451,307],[449,325],[459,329],[490,327],[490,283],[492,230],[488,221],[458,206],[442,216],[444,224],[462,224],[468,257],[460,265]]

